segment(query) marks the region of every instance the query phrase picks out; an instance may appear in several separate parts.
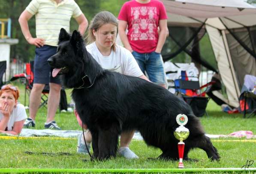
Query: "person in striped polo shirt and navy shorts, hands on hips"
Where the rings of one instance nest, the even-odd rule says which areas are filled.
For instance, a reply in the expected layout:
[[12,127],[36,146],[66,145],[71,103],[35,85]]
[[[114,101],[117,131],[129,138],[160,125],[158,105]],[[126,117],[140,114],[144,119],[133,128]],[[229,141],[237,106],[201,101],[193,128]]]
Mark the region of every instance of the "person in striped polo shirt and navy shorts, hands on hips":
[[[28,20],[36,17],[36,37],[30,34]],[[30,93],[29,118],[24,127],[35,127],[35,118],[41,102],[41,93],[45,84],[49,84],[48,110],[45,128],[60,130],[54,121],[60,101],[60,79],[53,78],[47,59],[57,52],[58,36],[61,28],[69,32],[69,23],[74,17],[78,31],[84,35],[88,21],[74,0],[32,0],[21,13],[18,21],[27,42],[36,46],[34,60],[34,83]]]

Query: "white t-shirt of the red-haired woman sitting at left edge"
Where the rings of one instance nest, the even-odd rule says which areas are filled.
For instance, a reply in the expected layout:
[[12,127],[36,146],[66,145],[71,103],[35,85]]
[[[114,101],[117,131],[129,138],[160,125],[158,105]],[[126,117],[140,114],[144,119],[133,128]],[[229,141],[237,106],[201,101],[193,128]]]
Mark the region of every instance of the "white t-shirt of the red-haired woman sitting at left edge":
[[[3,113],[0,112],[0,120],[2,119],[3,119]],[[27,119],[26,109],[23,104],[17,104],[17,106],[14,107],[12,110],[9,122],[7,124],[7,131],[12,131],[14,122],[19,122],[24,119]]]

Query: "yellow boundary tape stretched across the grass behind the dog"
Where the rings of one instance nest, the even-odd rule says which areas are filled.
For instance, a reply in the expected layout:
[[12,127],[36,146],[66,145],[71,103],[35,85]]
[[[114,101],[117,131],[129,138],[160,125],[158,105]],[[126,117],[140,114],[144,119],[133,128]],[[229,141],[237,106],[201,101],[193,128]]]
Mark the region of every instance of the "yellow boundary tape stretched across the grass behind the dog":
[[[0,136],[0,139],[77,139],[77,138],[64,138],[64,137],[45,137],[45,136]],[[133,140],[133,141],[142,141],[142,140]],[[256,139],[212,139],[212,142],[256,142]]]

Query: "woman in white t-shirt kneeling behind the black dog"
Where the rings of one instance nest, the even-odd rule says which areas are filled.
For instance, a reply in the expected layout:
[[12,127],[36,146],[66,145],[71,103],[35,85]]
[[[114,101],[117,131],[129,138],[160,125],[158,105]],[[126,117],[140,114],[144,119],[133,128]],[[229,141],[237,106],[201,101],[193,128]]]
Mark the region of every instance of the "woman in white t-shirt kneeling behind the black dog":
[[[142,73],[132,53],[122,46],[116,44],[117,19],[110,12],[100,12],[93,17],[89,26],[87,51],[102,66],[110,71],[122,73],[124,75],[136,76],[148,80]],[[78,113],[75,116],[80,126],[83,125]],[[127,159],[138,158],[130,150],[129,144],[133,138],[134,131],[121,133],[119,153]],[[90,148],[91,134],[89,131],[84,133],[87,147]],[[78,153],[87,154],[82,134],[78,136]]]

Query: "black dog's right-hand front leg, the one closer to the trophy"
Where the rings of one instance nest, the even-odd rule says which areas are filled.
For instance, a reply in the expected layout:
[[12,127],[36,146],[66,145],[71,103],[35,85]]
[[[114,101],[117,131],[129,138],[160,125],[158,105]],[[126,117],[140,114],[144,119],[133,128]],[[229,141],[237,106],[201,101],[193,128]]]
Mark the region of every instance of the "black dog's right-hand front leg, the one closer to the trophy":
[[108,130],[99,131],[99,160],[116,156],[118,145],[118,130],[110,127]]

